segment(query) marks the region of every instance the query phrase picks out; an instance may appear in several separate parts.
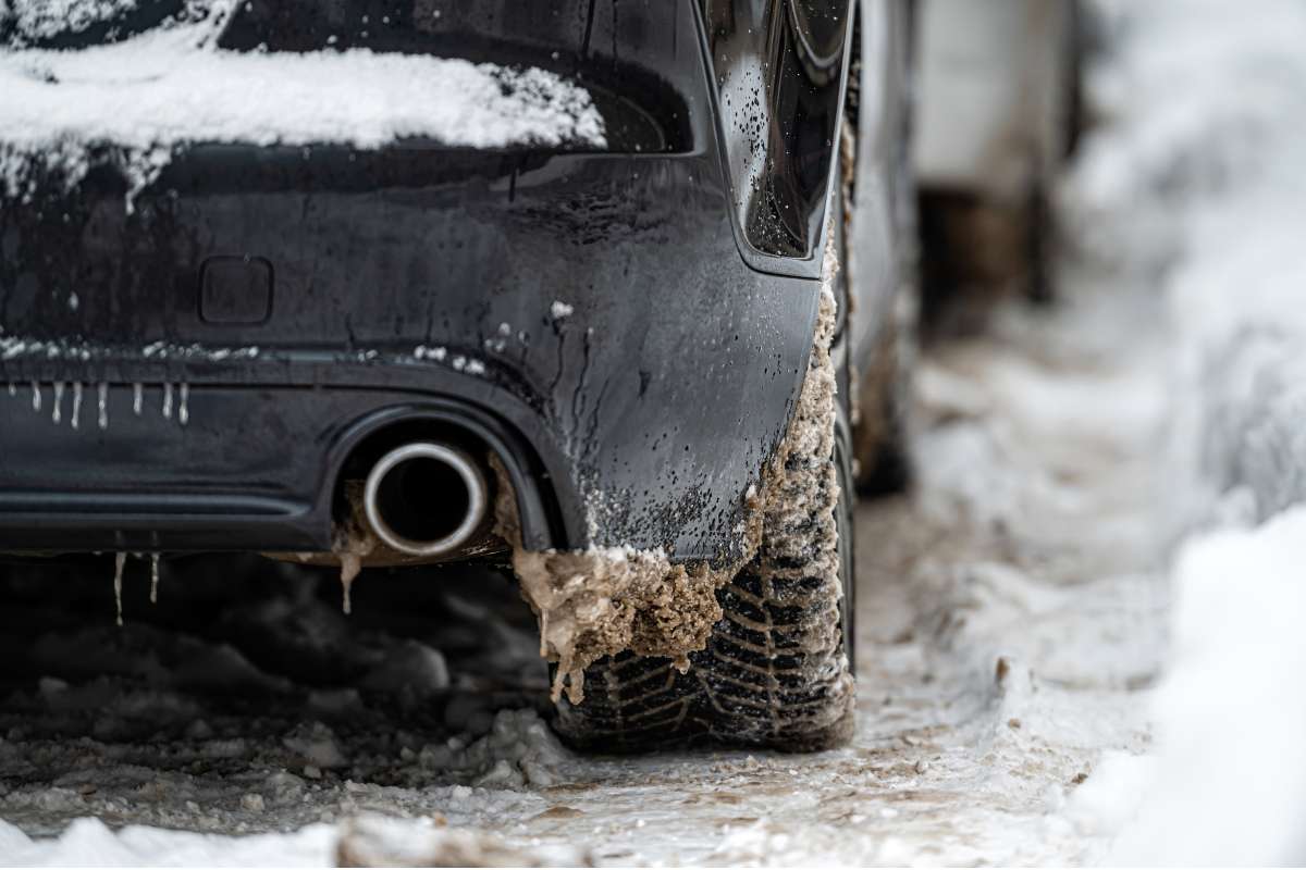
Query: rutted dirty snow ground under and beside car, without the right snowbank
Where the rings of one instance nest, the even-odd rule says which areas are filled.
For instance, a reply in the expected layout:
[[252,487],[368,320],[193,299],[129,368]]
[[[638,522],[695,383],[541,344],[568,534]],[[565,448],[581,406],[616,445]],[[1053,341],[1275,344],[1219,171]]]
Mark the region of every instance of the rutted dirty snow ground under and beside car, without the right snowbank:
[[259,562],[165,566],[151,608],[141,563],[116,629],[106,558],[10,578],[0,861],[1101,854],[1067,809],[1104,749],[1148,746],[1162,368],[1149,303],[1085,291],[923,370],[921,493],[858,518],[853,746],[575,755],[491,575],[364,577],[346,618],[329,573]]

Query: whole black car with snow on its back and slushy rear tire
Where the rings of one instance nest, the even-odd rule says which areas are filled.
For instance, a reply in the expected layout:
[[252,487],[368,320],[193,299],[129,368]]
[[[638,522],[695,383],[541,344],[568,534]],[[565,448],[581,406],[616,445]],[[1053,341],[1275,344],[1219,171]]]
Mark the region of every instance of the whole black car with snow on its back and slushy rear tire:
[[846,740],[905,1],[42,8],[0,7],[0,552],[511,554],[571,741]]

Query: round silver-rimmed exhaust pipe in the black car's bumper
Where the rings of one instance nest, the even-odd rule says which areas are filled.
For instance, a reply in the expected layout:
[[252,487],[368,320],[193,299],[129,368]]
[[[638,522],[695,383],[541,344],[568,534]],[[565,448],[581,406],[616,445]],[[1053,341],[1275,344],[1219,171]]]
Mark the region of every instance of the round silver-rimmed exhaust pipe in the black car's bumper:
[[461,450],[414,442],[367,475],[363,510],[372,531],[407,556],[445,556],[475,535],[490,507],[481,467]]

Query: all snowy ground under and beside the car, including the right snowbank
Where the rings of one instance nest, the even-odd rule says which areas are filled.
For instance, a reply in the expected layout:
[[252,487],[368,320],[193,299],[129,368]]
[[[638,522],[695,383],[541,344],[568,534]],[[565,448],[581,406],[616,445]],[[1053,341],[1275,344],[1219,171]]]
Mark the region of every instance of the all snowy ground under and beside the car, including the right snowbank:
[[1098,5],[1063,301],[858,515],[850,747],[575,755],[491,574],[12,569],[0,863],[1306,861],[1306,4]]

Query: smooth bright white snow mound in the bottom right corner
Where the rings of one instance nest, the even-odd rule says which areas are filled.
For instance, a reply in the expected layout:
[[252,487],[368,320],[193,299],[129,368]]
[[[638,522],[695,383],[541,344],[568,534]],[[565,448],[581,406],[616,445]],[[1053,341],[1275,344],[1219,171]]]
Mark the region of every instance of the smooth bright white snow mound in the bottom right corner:
[[1187,548],[1156,697],[1157,779],[1122,863],[1306,860],[1306,507]]

